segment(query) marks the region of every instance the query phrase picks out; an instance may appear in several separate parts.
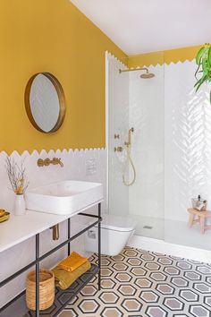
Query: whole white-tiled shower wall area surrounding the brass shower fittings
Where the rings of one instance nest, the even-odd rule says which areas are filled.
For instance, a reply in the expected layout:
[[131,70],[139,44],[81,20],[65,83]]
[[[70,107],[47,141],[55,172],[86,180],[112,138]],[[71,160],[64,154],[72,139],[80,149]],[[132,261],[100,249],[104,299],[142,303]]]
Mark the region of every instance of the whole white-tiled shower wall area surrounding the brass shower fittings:
[[[177,243],[177,230],[167,223],[187,227],[190,198],[201,194],[211,209],[211,87],[195,92],[195,60],[150,66],[156,74],[150,80],[140,79],[140,72],[120,75],[114,56],[109,62],[109,210],[136,218],[139,235],[168,241],[171,232],[171,242]],[[127,140],[131,126],[137,180],[128,188],[122,184],[125,151],[116,154],[114,146]],[[120,141],[114,133],[121,133]]]

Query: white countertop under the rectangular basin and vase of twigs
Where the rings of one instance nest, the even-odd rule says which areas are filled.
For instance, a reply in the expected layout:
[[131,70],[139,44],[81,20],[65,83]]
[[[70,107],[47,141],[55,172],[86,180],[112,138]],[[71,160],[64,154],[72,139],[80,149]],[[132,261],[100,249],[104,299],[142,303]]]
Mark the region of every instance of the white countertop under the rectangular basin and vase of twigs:
[[[102,201],[97,201],[88,208]],[[87,210],[88,208],[84,209]],[[10,219],[0,223],[0,253],[13,247],[16,244],[35,236],[57,223],[79,214],[83,210],[72,215],[54,215],[45,212],[26,210],[24,216],[10,215]]]

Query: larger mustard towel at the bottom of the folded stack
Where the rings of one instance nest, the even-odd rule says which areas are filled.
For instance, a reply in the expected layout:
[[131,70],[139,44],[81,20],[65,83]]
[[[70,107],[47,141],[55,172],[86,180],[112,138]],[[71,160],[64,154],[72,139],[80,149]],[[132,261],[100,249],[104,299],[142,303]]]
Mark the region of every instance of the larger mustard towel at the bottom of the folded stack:
[[67,289],[72,285],[72,283],[80,277],[83,273],[85,273],[87,270],[89,270],[91,267],[91,264],[87,260],[85,263],[80,265],[80,267],[73,272],[68,272],[67,270],[61,270],[57,267],[53,269],[53,272],[55,273],[55,286],[60,287],[63,290]]

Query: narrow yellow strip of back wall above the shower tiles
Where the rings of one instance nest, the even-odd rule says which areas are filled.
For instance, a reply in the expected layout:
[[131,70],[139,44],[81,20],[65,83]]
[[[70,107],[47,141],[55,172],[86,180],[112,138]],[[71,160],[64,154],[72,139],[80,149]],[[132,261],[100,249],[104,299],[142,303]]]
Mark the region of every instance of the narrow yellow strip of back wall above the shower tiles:
[[141,54],[137,56],[129,56],[128,66],[132,67],[142,67],[144,65],[149,66],[150,64],[170,64],[177,62],[184,62],[186,60],[193,60],[197,55],[198,49],[201,46],[195,47],[181,47],[176,49],[170,49],[161,52],[153,52],[148,54]]

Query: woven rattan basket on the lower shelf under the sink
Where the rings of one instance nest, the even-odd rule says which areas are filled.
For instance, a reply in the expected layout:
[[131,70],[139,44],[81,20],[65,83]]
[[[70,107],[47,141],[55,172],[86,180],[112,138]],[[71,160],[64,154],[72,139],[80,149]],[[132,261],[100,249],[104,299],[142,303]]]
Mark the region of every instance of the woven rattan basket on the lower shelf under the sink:
[[[51,270],[39,270],[39,310],[45,310],[55,301],[55,274]],[[27,307],[36,310],[36,272],[31,271],[26,281]]]

